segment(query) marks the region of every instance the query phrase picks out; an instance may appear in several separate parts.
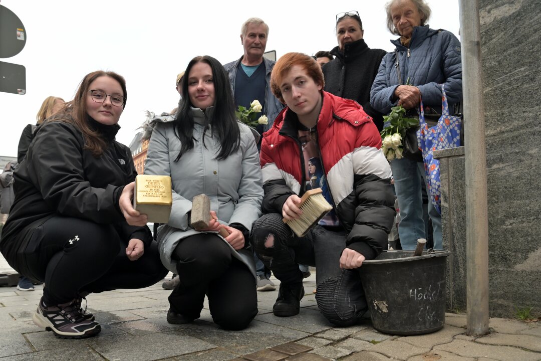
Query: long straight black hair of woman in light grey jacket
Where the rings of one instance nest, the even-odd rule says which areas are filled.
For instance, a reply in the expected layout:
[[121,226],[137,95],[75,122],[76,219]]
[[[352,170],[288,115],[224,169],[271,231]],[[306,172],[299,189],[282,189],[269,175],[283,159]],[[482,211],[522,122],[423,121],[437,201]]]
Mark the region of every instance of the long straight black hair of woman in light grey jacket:
[[188,78],[192,67],[200,62],[208,64],[212,70],[215,99],[212,132],[220,141],[220,153],[218,153],[216,159],[226,159],[229,154],[236,152],[240,147],[240,129],[235,116],[235,101],[233,100],[229,76],[222,64],[212,56],[196,56],[190,61],[182,77],[182,94],[184,96],[179,102],[179,110],[174,121],[175,135],[181,142],[181,148],[175,162],[180,159],[182,154],[194,147],[194,116],[191,109],[194,105],[190,101],[188,94]]

